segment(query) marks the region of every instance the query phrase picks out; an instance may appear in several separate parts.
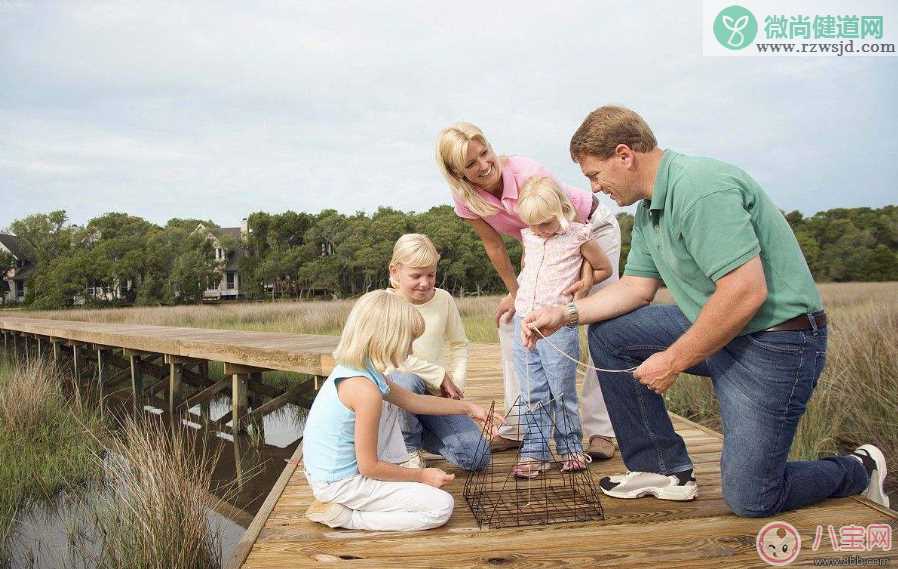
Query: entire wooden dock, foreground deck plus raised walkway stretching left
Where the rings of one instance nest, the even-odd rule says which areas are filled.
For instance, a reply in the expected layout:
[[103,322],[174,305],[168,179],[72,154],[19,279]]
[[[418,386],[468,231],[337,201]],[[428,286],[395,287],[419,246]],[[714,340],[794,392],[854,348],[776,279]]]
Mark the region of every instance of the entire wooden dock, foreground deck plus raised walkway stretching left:
[[[337,338],[294,334],[237,332],[196,328],[96,324],[0,316],[3,347],[19,360],[52,357],[73,365],[75,375],[91,374],[110,388],[130,381],[135,401],[141,395],[155,397],[182,412],[197,401],[232,389],[231,426],[239,431],[244,419],[259,418],[296,395],[275,393],[259,386],[257,398],[246,392],[261,382],[261,373],[281,370],[324,376],[333,361],[330,353]],[[160,360],[162,363],[160,363]],[[224,381],[208,377],[208,362],[226,364]],[[205,371],[204,371],[205,368]],[[152,381],[142,383],[147,376]],[[138,381],[139,380],[139,381]],[[311,382],[307,382],[311,383]],[[311,386],[306,386],[310,388]],[[158,393],[154,394],[155,391]],[[501,403],[502,379],[498,347],[473,345],[466,386],[469,399],[488,405]],[[253,403],[252,406],[249,406]],[[256,415],[253,415],[256,413]],[[226,417],[228,419],[231,417]],[[602,497],[606,519],[601,522],[567,523],[506,529],[481,529],[462,497],[465,473],[444,462],[433,461],[456,480],[447,488],[455,496],[455,513],[449,523],[427,532],[356,532],[332,530],[308,522],[303,514],[312,495],[302,475],[302,445],[287,464],[265,504],[238,544],[228,566],[253,569],[338,564],[352,567],[766,567],[755,549],[758,531],[773,519],[792,524],[802,538],[802,550],[792,565],[813,565],[815,559],[843,559],[857,555],[898,560],[894,547],[870,551],[834,551],[828,529],[842,526],[884,524],[892,534],[898,515],[860,498],[828,500],[813,507],[772,519],[739,518],[730,513],[720,491],[722,437],[681,417],[674,424],[686,440],[696,465],[699,497],[693,502],[663,502],[653,498],[615,500]],[[513,456],[505,453],[501,460]],[[594,462],[592,476],[625,470],[619,457]],[[815,533],[823,530],[822,543],[812,551]],[[837,543],[837,545],[839,545]]]

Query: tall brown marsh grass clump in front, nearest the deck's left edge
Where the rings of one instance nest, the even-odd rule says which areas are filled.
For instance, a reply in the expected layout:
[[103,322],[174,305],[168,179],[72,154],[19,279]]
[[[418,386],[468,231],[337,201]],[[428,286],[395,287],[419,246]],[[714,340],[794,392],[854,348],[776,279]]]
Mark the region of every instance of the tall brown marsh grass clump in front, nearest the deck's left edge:
[[76,555],[100,569],[220,567],[220,535],[208,512],[234,494],[215,487],[220,447],[153,417],[126,418],[117,431],[103,461],[107,490],[93,506],[93,528],[74,532],[95,535],[96,543],[73,540]]

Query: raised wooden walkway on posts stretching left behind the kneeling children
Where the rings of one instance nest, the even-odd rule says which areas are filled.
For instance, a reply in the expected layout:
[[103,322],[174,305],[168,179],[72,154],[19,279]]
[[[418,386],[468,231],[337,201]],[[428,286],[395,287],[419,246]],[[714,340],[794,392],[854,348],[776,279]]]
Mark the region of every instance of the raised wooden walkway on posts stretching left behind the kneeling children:
[[[334,336],[241,332],[172,326],[109,324],[0,315],[3,348],[19,361],[52,360],[77,381],[87,379],[101,398],[127,393],[134,410],[149,404],[176,417],[201,406],[203,423],[241,433],[261,424],[301,395],[311,397],[318,379],[333,367]],[[209,374],[209,362],[224,364],[224,379]],[[262,374],[286,371],[311,380],[287,391],[264,384]],[[230,389],[231,412],[217,420],[206,406]]]

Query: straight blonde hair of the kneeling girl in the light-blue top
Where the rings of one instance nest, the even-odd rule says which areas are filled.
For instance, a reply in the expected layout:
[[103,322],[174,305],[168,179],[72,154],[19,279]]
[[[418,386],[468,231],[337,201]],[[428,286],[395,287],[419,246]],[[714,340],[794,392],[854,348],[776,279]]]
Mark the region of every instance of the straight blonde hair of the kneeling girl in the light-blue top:
[[424,333],[424,319],[414,306],[386,290],[356,301],[343,326],[334,360],[355,369],[384,371],[398,367]]

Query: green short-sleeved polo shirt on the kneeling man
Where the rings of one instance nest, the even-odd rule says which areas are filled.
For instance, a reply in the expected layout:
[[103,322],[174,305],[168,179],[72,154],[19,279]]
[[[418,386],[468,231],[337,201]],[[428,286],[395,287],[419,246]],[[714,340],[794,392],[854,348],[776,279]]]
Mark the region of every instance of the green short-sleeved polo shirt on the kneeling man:
[[651,200],[636,209],[624,274],[663,280],[695,322],[715,282],[758,255],[767,300],[742,334],[823,307],[789,223],[751,176],[724,162],[664,151]]

